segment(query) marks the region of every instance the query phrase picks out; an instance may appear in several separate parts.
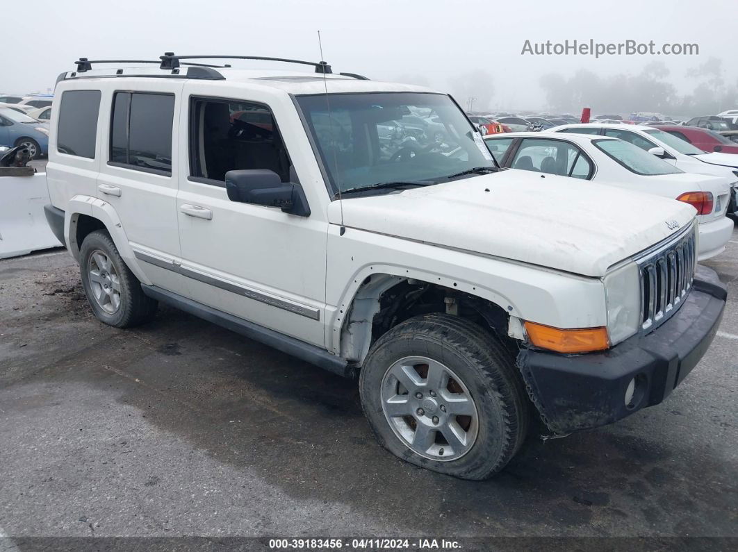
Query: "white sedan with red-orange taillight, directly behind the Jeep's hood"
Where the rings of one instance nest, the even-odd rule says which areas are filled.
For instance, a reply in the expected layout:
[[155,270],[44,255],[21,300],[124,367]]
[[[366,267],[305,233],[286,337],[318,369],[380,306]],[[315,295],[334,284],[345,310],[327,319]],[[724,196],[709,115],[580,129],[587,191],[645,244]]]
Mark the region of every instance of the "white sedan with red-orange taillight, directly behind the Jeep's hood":
[[[725,251],[733,221],[725,217],[731,187],[724,177],[683,172],[639,147],[607,136],[505,133],[484,137],[501,167],[569,176],[635,192],[662,195],[697,209],[703,261]],[[576,209],[576,198],[571,198]],[[638,209],[638,196],[633,196]],[[665,221],[668,224],[668,221]]]

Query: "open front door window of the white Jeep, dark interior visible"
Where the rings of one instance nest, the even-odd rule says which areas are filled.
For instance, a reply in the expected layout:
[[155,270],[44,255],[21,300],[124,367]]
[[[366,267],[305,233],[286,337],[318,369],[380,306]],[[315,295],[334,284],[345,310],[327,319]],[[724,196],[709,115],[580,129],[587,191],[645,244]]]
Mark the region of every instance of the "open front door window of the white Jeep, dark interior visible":
[[225,185],[230,170],[267,169],[291,177],[292,163],[266,105],[228,99],[190,100],[190,176]]

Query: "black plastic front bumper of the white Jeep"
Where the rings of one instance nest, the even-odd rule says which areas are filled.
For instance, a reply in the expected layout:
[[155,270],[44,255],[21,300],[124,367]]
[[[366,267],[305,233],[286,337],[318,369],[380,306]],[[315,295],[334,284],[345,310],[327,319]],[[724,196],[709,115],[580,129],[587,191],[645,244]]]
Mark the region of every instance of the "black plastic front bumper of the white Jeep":
[[[714,270],[698,265],[681,308],[647,335],[634,335],[601,353],[521,350],[517,365],[549,429],[570,433],[598,427],[658,405],[705,354],[723,318],[726,297]],[[633,398],[626,405],[634,378]]]

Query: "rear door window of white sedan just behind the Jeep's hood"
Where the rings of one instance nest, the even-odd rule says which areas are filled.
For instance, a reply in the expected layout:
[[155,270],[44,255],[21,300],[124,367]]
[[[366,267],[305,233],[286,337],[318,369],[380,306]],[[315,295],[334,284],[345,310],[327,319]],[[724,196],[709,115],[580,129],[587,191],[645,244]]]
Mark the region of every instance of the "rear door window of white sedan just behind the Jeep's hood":
[[520,142],[512,168],[587,178],[592,165],[574,144],[562,140],[526,138]]

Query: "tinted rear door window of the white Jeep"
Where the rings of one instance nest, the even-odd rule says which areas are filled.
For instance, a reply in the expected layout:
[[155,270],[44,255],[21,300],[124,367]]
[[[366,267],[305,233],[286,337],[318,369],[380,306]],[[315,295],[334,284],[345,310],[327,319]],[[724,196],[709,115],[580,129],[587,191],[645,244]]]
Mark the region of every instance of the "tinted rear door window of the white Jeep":
[[110,163],[171,175],[173,94],[116,92],[110,125]]

